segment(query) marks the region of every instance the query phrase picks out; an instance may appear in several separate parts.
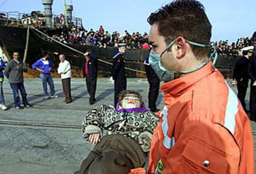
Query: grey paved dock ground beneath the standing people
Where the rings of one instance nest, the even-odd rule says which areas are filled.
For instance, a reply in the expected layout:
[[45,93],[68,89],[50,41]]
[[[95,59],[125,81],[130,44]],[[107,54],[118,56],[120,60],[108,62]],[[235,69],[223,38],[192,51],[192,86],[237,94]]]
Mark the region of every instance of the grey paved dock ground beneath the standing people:
[[[28,102],[33,107],[20,110],[14,109],[12,90],[9,83],[4,82],[4,96],[9,109],[0,110],[0,173],[74,173],[92,149],[92,144],[82,138],[82,118],[92,107],[113,104],[113,84],[108,78],[98,79],[97,102],[90,106],[82,78],[72,78],[74,102],[70,104],[63,102],[61,80],[54,78],[54,83],[60,97],[46,100],[40,79],[25,78]],[[139,90],[147,106],[146,79],[129,78],[127,89]],[[249,90],[247,93],[248,103]],[[163,108],[161,93],[157,105]],[[256,123],[251,123],[255,139]]]

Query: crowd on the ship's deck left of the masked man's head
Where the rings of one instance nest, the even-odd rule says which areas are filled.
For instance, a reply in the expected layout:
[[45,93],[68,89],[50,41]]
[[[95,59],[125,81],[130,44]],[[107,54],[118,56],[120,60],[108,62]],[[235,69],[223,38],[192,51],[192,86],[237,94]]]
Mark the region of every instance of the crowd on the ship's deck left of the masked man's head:
[[61,43],[69,44],[82,44],[87,46],[98,46],[99,48],[106,48],[107,46],[117,47],[119,43],[126,43],[127,49],[148,49],[148,34],[145,32],[143,35],[139,32],[130,34],[127,30],[124,31],[125,35],[114,31],[112,34],[105,31],[101,25],[99,30],[93,31],[85,30],[83,27],[71,27],[70,30],[61,31],[51,35]]

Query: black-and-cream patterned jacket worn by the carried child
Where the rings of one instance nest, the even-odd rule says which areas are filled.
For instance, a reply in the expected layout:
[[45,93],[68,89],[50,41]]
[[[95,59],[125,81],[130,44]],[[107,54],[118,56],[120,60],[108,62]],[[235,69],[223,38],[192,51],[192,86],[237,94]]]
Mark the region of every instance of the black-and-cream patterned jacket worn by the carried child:
[[117,112],[111,106],[101,105],[90,110],[83,118],[83,138],[88,141],[91,133],[100,133],[102,138],[103,130],[106,130],[107,135],[119,134],[134,139],[144,152],[148,152],[159,120],[151,111]]

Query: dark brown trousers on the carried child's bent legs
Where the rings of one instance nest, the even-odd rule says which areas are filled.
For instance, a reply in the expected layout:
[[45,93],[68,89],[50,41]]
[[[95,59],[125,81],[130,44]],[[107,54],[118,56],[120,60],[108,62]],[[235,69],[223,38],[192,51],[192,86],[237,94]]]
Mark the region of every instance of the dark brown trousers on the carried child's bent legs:
[[129,173],[143,167],[146,154],[133,139],[121,135],[105,136],[83,160],[77,173]]

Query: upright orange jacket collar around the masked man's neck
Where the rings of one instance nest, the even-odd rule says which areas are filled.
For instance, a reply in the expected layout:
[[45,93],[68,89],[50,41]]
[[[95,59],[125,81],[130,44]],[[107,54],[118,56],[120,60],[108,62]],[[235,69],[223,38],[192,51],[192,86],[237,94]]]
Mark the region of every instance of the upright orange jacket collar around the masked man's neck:
[[210,73],[213,73],[215,70],[211,67],[212,62],[209,62],[207,65],[203,66],[195,72],[184,75],[184,77],[177,78],[176,80],[169,81],[164,83],[161,86],[161,91],[164,93],[169,93],[171,96],[180,96],[185,93],[187,88],[197,83],[203,77],[206,77]]

